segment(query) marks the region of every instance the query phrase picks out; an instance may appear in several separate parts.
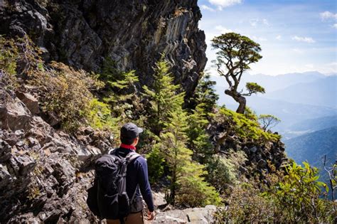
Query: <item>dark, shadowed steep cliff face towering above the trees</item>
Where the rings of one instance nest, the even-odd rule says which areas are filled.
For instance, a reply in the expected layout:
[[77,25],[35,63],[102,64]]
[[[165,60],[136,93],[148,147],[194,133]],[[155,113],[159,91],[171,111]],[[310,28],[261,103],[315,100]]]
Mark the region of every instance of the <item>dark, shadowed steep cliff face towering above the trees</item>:
[[45,60],[100,71],[111,58],[119,70],[137,70],[144,84],[164,53],[186,97],[207,60],[200,18],[197,0],[0,1],[0,34],[28,34]]

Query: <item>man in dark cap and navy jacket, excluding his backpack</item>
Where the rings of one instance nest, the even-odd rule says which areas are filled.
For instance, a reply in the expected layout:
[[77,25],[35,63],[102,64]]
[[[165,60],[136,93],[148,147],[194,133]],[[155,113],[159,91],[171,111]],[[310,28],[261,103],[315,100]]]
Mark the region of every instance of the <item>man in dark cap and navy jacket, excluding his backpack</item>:
[[[139,134],[143,132],[143,129],[137,127],[136,124],[127,123],[121,129],[120,139],[122,144],[118,149],[114,151],[114,154],[125,157],[132,151],[136,151],[136,146],[139,141]],[[151,186],[149,183],[149,176],[147,172],[146,159],[143,156],[139,156],[137,159],[127,165],[127,195],[129,198],[134,196],[134,200],[131,206],[131,213],[124,218],[125,224],[139,224],[144,223],[143,218],[143,196],[146,202],[148,213],[147,220],[154,219],[154,201],[151,193]],[[108,224],[120,223],[119,220],[107,220]]]

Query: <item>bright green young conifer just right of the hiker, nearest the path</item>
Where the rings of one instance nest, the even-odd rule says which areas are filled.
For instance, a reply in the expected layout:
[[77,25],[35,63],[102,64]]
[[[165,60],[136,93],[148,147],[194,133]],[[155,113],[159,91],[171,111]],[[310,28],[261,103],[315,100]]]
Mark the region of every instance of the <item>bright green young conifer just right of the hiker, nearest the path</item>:
[[218,193],[205,183],[207,174],[203,166],[192,161],[193,152],[186,148],[186,112],[178,108],[171,113],[169,123],[161,133],[161,142],[156,147],[164,155],[171,171],[169,203],[188,206],[203,206],[220,203]]

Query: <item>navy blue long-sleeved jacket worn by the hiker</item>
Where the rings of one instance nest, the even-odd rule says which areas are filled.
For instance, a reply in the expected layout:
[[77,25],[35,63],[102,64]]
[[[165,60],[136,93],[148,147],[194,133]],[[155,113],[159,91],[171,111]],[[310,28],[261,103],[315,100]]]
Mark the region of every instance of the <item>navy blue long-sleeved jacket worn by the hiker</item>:
[[[119,149],[116,149],[115,154],[125,157],[127,154],[129,154],[129,152],[132,152],[132,150],[120,147]],[[127,165],[127,196],[129,196],[130,200],[134,195],[136,188],[137,193],[135,198],[142,195],[149,210],[151,212],[154,211],[154,201],[149,183],[147,163],[143,156],[139,156],[137,159]]]

